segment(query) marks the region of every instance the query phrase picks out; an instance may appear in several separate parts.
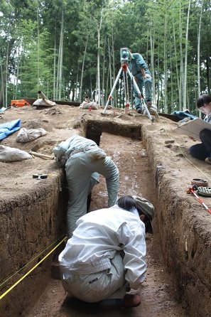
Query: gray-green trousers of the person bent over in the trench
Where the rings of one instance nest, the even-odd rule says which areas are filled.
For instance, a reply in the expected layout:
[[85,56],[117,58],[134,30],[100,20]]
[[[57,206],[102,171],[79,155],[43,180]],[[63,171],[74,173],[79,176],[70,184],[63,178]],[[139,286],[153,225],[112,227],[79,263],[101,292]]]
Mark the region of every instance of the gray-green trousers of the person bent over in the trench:
[[89,155],[90,151],[72,155],[65,165],[69,194],[67,208],[67,234],[69,237],[72,237],[77,219],[87,213],[87,195],[97,183],[97,173],[106,178],[108,207],[112,207],[118,199],[119,170],[117,166],[109,156],[93,161]]

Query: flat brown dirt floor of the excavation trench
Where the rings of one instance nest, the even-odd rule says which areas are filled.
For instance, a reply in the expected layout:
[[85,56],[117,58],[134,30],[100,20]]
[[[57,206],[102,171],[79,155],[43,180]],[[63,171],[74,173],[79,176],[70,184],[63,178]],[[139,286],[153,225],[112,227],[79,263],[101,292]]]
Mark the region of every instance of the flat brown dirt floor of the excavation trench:
[[[88,128],[94,129],[94,122],[89,122]],[[93,134],[95,138],[101,134],[102,125],[97,126]],[[112,131],[114,127],[110,127]],[[120,184],[119,195],[125,194],[139,194],[151,200],[155,205],[158,212],[159,204],[156,197],[156,188],[153,186],[153,179],[151,174],[151,168],[148,161],[148,155],[146,147],[140,139],[140,129],[134,129],[133,135],[136,138],[131,138],[125,127],[123,134],[127,136],[120,136],[122,127],[119,130],[114,130],[113,133],[102,133],[100,136],[99,145],[107,151],[107,154],[112,156],[115,163],[119,168]],[[130,129],[130,127],[129,127]],[[129,130],[128,129],[128,130]],[[87,134],[90,135],[89,129]],[[95,139],[95,141],[97,141]],[[92,202],[90,210],[96,210],[107,205],[107,189],[106,183],[103,177],[100,178],[100,182],[95,186],[92,192]],[[146,282],[141,289],[142,305],[133,309],[132,316],[186,316],[185,311],[180,303],[176,301],[176,294],[173,289],[173,284],[169,281],[170,276],[166,272],[162,262],[161,246],[159,245],[159,235],[157,220],[154,220],[154,236],[147,235],[148,245],[148,274]],[[56,299],[52,298],[53,291],[55,294],[60,293]],[[126,312],[110,310],[101,311],[98,308],[94,308],[92,305],[81,303],[80,301],[70,299],[66,296],[61,285],[55,282],[49,285],[45,294],[44,301],[41,299],[33,312],[32,316],[48,316],[48,313],[54,313],[52,316],[109,316],[111,313],[115,313],[116,316],[124,316]],[[58,303],[56,305],[55,303]],[[57,312],[51,310],[52,304]]]

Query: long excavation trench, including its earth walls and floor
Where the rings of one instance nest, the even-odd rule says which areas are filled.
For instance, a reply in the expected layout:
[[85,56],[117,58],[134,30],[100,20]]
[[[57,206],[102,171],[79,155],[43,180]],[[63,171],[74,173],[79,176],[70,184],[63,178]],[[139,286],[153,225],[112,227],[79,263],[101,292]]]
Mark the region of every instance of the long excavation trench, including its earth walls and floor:
[[[158,136],[155,125],[130,124],[124,120],[117,122],[113,118],[98,121],[82,117],[79,126],[80,130],[76,133],[96,141],[117,163],[120,171],[119,195],[142,195],[156,208],[154,234],[146,235],[148,272],[140,289],[141,306],[126,312],[121,309],[99,311],[67,296],[60,280],[55,279],[58,277],[56,259],[64,247],[62,244],[1,299],[0,315],[79,317],[111,316],[115,313],[116,316],[127,314],[135,317],[210,316],[210,227],[207,226],[206,230],[200,227],[207,225],[205,213],[201,213],[200,222],[198,215],[193,216],[193,209],[190,213],[191,198],[181,194],[177,186],[180,170],[175,172],[174,164],[166,166],[165,156],[167,154],[170,158],[172,154],[172,149],[165,147],[161,151],[161,139],[166,136]],[[75,131],[71,131],[70,135],[73,133]],[[47,150],[51,151],[55,142],[46,141],[44,144],[48,144]],[[46,148],[43,144],[40,146],[42,150]],[[36,159],[39,163],[33,173],[45,172],[48,178],[38,181],[31,178],[32,168],[28,161],[22,183],[18,184],[18,193],[14,195],[6,188],[4,199],[0,200],[1,210],[4,210],[0,231],[4,241],[4,248],[1,247],[1,276],[9,277],[11,272],[20,270],[9,283],[1,285],[1,294],[28,272],[25,265],[31,259],[36,256],[30,268],[44,257],[40,252],[46,246],[50,247],[44,254],[48,254],[65,235],[65,173],[55,162],[45,161],[43,168],[39,160]],[[19,175],[19,165],[13,166],[13,176]],[[183,181],[186,181],[185,177],[190,177],[188,172],[183,175]],[[90,210],[106,206],[106,183],[101,177],[92,191]],[[198,210],[198,205],[195,204],[194,208]]]

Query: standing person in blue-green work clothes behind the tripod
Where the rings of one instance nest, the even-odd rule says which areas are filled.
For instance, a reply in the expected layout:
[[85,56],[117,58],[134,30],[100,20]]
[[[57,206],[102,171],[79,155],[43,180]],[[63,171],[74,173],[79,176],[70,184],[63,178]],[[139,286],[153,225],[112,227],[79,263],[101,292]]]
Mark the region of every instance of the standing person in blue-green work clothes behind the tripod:
[[[131,53],[129,55],[129,70],[139,87],[141,94],[143,95],[143,87],[145,88],[145,100],[148,108],[151,107],[152,100],[152,78],[151,72],[148,70],[148,65],[146,64],[144,58],[139,53]],[[134,87],[135,96],[135,107],[138,113],[142,113],[141,99],[138,92]]]

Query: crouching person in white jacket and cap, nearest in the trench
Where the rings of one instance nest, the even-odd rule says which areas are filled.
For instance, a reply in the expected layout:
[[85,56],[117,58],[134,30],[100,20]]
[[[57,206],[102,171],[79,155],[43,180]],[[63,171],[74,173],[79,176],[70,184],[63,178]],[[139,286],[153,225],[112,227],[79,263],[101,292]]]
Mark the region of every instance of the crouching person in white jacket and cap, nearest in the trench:
[[92,211],[77,227],[60,253],[65,291],[101,307],[134,307],[146,276],[146,232],[153,233],[153,205],[139,196],[124,195],[111,208]]

